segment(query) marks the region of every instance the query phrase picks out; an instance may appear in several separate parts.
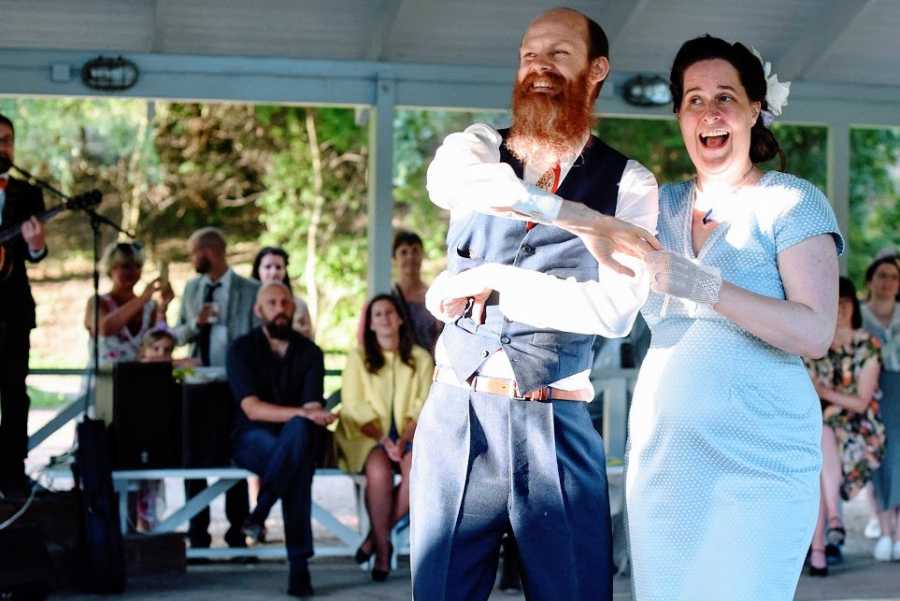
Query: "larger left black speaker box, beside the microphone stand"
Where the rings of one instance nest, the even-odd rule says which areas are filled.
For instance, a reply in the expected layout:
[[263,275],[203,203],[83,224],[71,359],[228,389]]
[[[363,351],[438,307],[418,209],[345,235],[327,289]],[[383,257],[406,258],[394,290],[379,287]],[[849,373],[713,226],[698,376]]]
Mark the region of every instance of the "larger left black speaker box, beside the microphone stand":
[[113,368],[113,469],[179,467],[181,393],[171,363],[116,363]]

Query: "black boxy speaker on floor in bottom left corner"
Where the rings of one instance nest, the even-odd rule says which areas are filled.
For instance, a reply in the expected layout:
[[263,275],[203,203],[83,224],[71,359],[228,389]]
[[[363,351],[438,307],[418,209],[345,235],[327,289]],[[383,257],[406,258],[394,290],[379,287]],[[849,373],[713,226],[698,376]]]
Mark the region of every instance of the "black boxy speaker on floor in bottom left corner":
[[13,525],[0,530],[0,599],[46,599],[51,572],[40,528]]

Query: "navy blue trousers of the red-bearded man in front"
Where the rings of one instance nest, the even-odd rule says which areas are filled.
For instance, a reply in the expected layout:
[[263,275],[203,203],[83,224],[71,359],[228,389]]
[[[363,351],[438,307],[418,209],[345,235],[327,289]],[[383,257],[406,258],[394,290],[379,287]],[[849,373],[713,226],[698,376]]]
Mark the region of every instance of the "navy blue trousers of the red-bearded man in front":
[[413,449],[414,599],[487,599],[504,532],[530,601],[612,599],[606,460],[584,403],[436,382]]

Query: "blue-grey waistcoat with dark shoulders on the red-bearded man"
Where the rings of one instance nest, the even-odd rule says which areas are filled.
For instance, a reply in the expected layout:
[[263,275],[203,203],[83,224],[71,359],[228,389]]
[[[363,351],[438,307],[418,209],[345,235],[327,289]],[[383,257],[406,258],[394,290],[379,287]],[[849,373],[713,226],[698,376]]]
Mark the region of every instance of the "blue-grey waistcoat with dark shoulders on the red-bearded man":
[[[502,130],[504,139],[508,130]],[[520,178],[523,165],[506,148],[500,160]],[[587,147],[569,170],[557,194],[581,202],[605,215],[615,215],[619,180],[627,158],[591,136]],[[452,273],[482,263],[515,265],[560,278],[579,281],[597,278],[597,261],[581,240],[554,226],[472,213],[450,224],[447,234],[448,267]],[[543,294],[535,290],[535,294]],[[510,321],[489,302],[485,323],[476,324],[467,312],[447,324],[443,344],[457,377],[467,380],[478,366],[501,348],[506,352],[519,391],[528,392],[591,367],[593,336],[545,330]]]

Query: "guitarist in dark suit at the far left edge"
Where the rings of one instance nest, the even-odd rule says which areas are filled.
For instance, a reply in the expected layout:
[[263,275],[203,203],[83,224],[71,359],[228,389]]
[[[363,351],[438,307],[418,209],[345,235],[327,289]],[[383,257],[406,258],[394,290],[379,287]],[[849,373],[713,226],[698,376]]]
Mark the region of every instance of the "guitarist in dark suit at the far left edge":
[[[15,161],[15,128],[0,114],[0,155]],[[22,235],[6,243],[8,275],[0,280],[0,492],[25,495],[28,455],[28,407],[25,388],[30,335],[35,327],[34,298],[25,262],[47,256],[44,226],[34,216],[44,211],[40,188],[0,173],[0,226],[22,223]]]

